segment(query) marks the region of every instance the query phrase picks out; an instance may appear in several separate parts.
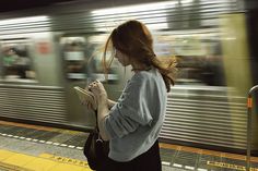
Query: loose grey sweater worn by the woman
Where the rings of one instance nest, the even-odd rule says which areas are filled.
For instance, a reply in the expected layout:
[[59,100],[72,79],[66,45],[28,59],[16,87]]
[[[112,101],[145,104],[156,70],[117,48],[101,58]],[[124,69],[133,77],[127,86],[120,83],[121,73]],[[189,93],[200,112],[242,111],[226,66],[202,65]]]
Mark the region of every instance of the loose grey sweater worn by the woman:
[[105,118],[110,137],[108,157],[130,161],[159,137],[166,111],[166,87],[156,69],[136,73]]

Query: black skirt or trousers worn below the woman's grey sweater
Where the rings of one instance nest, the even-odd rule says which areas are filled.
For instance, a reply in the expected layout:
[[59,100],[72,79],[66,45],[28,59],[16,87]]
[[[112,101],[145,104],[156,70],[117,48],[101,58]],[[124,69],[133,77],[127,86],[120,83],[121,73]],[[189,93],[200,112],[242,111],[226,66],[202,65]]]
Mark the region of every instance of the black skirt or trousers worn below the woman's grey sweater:
[[102,169],[97,171],[162,171],[159,142],[144,154],[138,156],[131,161],[118,162],[110,158],[102,164]]

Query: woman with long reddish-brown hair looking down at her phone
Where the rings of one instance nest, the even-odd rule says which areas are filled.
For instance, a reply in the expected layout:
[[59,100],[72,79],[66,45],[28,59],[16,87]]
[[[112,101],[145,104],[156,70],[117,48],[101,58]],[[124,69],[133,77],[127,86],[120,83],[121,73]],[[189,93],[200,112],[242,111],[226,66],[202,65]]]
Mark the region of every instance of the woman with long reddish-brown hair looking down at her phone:
[[[103,84],[95,81],[89,88],[95,95],[101,136],[109,141],[108,159],[101,171],[161,171],[159,134],[166,111],[166,97],[174,85],[175,61],[162,63],[153,51],[153,39],[146,26],[128,21],[115,28],[107,39],[107,49],[124,65],[132,66],[117,102],[108,100]],[[108,63],[108,64],[107,64]]]

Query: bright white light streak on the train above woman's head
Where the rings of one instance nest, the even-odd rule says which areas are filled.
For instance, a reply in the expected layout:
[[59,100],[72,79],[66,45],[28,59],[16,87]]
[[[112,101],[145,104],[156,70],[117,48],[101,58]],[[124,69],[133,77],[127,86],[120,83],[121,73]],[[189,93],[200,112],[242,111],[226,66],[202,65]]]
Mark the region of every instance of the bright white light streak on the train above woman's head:
[[[150,29],[167,29],[167,9],[176,8],[177,0],[145,4],[114,7],[91,12],[94,28],[98,32],[110,32],[128,20],[138,20],[146,24]],[[146,10],[148,9],[148,10]],[[114,15],[119,17],[114,19]],[[145,17],[148,15],[148,17]]]

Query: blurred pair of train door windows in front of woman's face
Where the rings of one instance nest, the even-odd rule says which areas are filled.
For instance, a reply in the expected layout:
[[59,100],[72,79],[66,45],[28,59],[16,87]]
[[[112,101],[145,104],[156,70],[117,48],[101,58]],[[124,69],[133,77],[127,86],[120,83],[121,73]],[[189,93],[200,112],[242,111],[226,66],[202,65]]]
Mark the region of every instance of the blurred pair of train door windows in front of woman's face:
[[[103,35],[62,37],[62,53],[67,78],[80,80],[105,80],[102,68],[103,45],[106,38]],[[114,68],[108,73],[108,82],[117,81]]]

